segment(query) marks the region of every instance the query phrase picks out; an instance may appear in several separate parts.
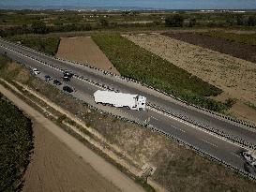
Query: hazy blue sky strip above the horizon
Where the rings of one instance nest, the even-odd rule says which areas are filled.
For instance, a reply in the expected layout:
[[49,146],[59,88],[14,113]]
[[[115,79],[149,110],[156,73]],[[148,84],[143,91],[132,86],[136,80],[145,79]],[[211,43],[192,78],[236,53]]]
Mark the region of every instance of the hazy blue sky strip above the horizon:
[[0,8],[27,6],[152,7],[156,9],[256,9],[256,0],[0,0]]

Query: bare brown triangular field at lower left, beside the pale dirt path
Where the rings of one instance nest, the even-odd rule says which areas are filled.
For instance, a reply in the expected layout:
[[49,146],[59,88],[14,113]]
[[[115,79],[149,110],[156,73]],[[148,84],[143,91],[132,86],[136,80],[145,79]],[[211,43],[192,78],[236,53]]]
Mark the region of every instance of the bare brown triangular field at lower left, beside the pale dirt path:
[[119,191],[37,122],[34,137],[23,191]]

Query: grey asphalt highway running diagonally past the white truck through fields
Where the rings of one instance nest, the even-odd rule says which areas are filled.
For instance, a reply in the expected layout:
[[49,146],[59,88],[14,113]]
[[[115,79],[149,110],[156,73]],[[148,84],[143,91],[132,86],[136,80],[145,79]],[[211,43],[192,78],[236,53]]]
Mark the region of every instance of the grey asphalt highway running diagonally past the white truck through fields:
[[[72,96],[102,111],[108,111],[141,124],[148,121],[148,127],[174,140],[179,140],[204,155],[219,159],[235,169],[246,171],[248,175],[256,176],[256,171],[249,168],[240,155],[241,151],[248,149],[248,145],[256,146],[256,131],[252,128],[198,110],[133,81],[104,74],[100,70],[87,66],[61,61],[1,38],[0,53],[7,54],[9,58],[25,66],[37,67],[42,72],[38,76],[41,79],[44,79],[44,75],[47,74],[53,79],[61,80],[63,76],[61,69],[72,71],[75,77],[66,82],[76,90]],[[84,81],[84,78],[90,81]],[[93,93],[103,89],[102,85],[120,92],[146,96],[151,107],[148,106],[146,111],[130,111],[97,105],[93,100]],[[62,89],[62,87],[58,88]],[[152,105],[158,107],[152,107]]]

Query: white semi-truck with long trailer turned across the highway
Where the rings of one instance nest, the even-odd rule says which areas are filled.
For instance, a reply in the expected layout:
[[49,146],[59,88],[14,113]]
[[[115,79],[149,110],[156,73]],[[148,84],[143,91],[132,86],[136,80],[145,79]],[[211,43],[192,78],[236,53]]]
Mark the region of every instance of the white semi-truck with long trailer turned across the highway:
[[145,111],[145,96],[116,93],[113,91],[96,91],[94,93],[96,103],[110,105],[116,108],[128,108],[130,110]]

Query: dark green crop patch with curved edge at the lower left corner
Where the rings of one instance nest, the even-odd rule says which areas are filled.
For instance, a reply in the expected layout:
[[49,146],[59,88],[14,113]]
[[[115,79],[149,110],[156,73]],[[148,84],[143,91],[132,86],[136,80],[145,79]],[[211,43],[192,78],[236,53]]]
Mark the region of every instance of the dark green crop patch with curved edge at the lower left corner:
[[15,191],[33,147],[32,124],[0,94],[0,191]]

